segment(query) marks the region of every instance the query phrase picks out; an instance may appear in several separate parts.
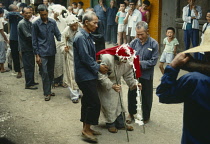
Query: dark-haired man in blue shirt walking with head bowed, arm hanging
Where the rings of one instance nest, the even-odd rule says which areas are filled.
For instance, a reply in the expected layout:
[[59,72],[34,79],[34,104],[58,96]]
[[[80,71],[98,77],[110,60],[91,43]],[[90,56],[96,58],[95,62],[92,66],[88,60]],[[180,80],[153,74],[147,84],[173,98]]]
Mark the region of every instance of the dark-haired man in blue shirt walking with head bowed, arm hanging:
[[61,33],[55,20],[48,18],[48,9],[44,4],[38,6],[40,18],[32,25],[32,45],[36,62],[41,67],[45,101],[55,94],[51,92],[55,65],[55,39],[61,41]]

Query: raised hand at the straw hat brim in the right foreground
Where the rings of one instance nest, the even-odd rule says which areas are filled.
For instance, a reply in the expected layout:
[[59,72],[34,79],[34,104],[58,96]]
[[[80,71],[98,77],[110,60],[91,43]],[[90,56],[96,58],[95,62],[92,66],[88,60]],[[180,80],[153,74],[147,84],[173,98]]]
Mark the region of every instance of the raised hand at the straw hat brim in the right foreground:
[[184,54],[184,53],[179,53],[176,55],[176,57],[173,59],[173,61],[170,63],[170,66],[173,68],[180,68],[184,64],[186,64],[190,60],[190,56]]

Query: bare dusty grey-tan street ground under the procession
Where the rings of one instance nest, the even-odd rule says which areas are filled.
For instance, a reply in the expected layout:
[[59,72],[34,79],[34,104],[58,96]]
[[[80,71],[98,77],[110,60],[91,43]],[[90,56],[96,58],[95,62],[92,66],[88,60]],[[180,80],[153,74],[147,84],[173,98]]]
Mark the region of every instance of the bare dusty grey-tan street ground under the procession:
[[[110,46],[107,46],[110,47]],[[184,71],[180,72],[183,75]],[[182,134],[183,104],[160,104],[155,94],[161,73],[155,67],[153,108],[151,121],[143,127],[137,124],[129,132],[130,144],[178,144]],[[44,101],[42,82],[38,90],[25,90],[24,78],[16,79],[12,72],[0,73],[0,144],[7,138],[15,144],[85,144],[81,138],[81,103],[73,104],[65,88],[53,89],[55,97]],[[127,86],[123,85],[124,104],[127,105]],[[95,130],[100,144],[127,144],[126,132],[109,133],[103,114]],[[7,143],[9,144],[9,143]]]

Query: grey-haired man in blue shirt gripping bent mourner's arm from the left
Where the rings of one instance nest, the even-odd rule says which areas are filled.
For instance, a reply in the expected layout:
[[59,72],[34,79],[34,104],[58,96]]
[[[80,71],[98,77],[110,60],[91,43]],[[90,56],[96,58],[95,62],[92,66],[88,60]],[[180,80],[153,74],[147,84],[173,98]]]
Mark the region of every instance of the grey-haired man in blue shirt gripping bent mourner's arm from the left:
[[98,27],[98,17],[88,11],[82,18],[83,28],[79,29],[74,38],[74,71],[75,80],[83,93],[81,100],[81,119],[83,122],[82,136],[89,141],[97,142],[93,135],[100,134],[90,128],[98,124],[100,100],[97,92],[98,71],[105,74],[108,67],[96,62],[95,43],[91,32]]

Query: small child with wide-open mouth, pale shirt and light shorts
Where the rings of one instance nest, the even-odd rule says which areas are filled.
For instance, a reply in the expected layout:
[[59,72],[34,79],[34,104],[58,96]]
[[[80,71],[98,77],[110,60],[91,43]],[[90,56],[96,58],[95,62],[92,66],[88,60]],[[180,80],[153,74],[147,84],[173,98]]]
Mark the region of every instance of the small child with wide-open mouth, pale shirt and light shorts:
[[166,38],[163,40],[164,51],[160,58],[159,68],[162,74],[164,74],[164,63],[170,64],[176,55],[177,46],[179,45],[178,40],[174,37],[175,29],[169,27],[166,29]]

